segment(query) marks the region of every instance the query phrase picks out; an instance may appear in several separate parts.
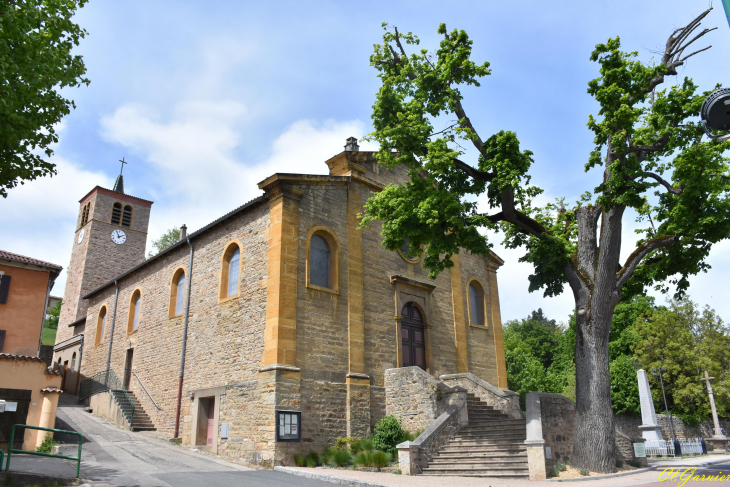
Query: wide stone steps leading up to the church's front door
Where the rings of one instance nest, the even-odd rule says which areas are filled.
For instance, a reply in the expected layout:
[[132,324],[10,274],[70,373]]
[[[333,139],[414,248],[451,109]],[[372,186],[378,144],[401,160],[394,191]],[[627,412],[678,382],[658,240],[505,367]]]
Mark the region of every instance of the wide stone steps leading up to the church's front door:
[[444,446],[423,475],[529,476],[524,419],[512,419],[467,394],[469,425]]

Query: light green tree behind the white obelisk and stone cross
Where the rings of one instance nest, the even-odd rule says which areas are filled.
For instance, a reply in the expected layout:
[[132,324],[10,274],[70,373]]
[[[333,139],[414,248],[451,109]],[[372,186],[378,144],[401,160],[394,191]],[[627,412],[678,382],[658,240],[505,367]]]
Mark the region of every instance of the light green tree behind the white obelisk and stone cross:
[[671,301],[647,320],[637,321],[635,332],[635,359],[649,372],[658,409],[664,409],[664,399],[651,369],[665,367],[664,389],[671,411],[690,423],[711,417],[707,389],[700,381],[707,370],[715,377],[718,414],[730,414],[730,330],[713,310],[700,310],[691,301]]

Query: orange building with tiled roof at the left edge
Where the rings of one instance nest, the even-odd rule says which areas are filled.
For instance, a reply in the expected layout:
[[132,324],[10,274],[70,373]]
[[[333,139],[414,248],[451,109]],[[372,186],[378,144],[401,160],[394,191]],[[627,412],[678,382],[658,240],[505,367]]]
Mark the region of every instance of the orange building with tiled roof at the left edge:
[[[39,358],[43,320],[61,266],[0,250],[0,449],[14,424],[52,428],[61,372]],[[15,448],[35,449],[45,433],[26,429]]]

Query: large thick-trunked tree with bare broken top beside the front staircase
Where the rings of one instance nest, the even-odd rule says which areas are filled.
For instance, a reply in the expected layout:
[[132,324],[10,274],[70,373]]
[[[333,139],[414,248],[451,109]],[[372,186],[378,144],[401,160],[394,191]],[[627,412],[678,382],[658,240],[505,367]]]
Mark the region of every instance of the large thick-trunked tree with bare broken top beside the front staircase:
[[[704,50],[693,44],[709,11],[666,42],[659,62],[646,64],[621,50],[619,38],[598,44],[591,60],[600,75],[588,91],[600,105],[589,117],[595,148],[585,168],[601,168],[594,188],[574,207],[562,201],[537,206],[542,192],[530,185],[533,154],[513,132],[485,137],[471,123],[461,87],[479,86],[489,64],[470,59],[464,31],[447,31],[434,52],[408,53],[419,43],[385,27],[372,65],[382,86],[373,106],[381,164],[409,168],[410,181],[392,185],[367,203],[362,224],[382,221],[383,244],[400,248],[406,238],[425,253],[437,275],[461,251],[486,256],[487,232],[501,230],[509,247],[524,247],[534,265],[530,290],[573,291],[576,327],[576,426],[572,463],[598,472],[616,469],[611,411],[608,336],[622,293],[655,284],[679,292],[688,276],[706,270],[712,244],[730,235],[729,143],[703,141],[697,116],[707,93],[690,80],[661,89],[677,68]],[[455,121],[448,121],[455,118]],[[478,158],[464,161],[459,143],[473,144]],[[656,195],[653,194],[656,192]],[[484,195],[490,210],[480,211]],[[636,249],[619,259],[626,210],[646,222]]]

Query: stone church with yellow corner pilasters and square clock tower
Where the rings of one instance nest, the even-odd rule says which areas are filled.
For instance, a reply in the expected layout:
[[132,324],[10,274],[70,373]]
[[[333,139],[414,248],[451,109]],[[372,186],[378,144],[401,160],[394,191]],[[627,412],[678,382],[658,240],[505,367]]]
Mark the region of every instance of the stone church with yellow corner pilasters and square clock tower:
[[429,279],[407,245],[381,245],[379,225],[358,229],[405,168],[354,138],[326,164],[273,174],[261,196],[149,259],[151,201],[125,194],[121,176],[84,196],[54,356],[77,354],[81,399],[125,427],[270,466],[370,434],[389,369],[506,389],[503,262],[464,252]]

